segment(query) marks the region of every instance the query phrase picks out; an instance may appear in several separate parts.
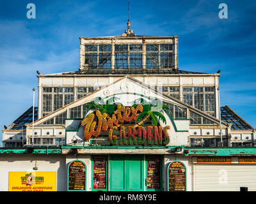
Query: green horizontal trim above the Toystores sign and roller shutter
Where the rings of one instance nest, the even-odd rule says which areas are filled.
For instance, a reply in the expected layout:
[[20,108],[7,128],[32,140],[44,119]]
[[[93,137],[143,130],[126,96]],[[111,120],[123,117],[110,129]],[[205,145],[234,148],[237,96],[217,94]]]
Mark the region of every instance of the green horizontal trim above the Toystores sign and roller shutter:
[[[188,151],[188,152],[187,152]],[[256,156],[256,148],[184,149],[185,156]]]

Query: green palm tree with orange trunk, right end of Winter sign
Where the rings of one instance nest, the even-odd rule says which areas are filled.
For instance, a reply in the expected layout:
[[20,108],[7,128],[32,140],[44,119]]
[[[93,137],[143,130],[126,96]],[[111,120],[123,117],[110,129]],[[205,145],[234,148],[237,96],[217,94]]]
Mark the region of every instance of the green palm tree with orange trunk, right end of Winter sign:
[[[143,112],[138,115],[137,119],[135,120],[134,128],[145,124],[148,119],[151,117],[151,122],[153,126],[157,126],[157,117],[166,124],[166,119],[162,113],[159,112],[161,108],[166,111],[168,110],[168,106],[163,105],[163,103],[159,99],[154,99],[150,104],[143,98],[139,99],[140,103],[143,104]],[[136,105],[133,105],[136,106]]]

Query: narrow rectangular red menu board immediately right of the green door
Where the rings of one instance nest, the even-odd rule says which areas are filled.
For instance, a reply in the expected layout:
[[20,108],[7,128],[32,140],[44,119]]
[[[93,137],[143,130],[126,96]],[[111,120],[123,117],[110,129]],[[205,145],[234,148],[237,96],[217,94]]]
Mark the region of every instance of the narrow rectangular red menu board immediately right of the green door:
[[147,188],[160,189],[160,159],[159,157],[148,157],[147,163]]

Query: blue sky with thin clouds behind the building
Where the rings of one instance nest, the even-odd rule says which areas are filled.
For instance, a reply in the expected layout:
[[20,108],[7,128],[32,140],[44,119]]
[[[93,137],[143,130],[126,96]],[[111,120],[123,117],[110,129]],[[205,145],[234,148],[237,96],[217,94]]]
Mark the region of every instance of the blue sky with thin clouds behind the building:
[[[35,19],[26,17],[28,3],[36,6]],[[227,19],[218,17],[220,3],[228,6]],[[221,105],[256,128],[256,1],[131,0],[130,10],[137,35],[179,36],[179,69],[220,69]],[[1,129],[33,104],[36,70],[77,70],[80,36],[118,36],[126,23],[127,1],[1,0]]]

